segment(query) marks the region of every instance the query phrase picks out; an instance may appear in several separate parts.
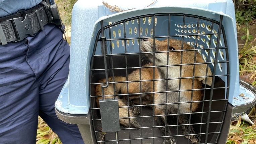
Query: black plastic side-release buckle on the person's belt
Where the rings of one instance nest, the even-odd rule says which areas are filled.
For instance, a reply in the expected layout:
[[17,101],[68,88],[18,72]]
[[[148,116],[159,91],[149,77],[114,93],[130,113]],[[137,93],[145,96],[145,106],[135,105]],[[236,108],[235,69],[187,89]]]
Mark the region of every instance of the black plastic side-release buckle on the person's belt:
[[27,14],[25,15],[24,19],[23,17],[19,17],[19,18],[11,18],[6,21],[11,21],[12,25],[14,26],[14,31],[17,36],[17,40],[13,42],[21,41],[24,38],[26,38],[28,35],[35,36],[35,34],[33,34],[33,30]]

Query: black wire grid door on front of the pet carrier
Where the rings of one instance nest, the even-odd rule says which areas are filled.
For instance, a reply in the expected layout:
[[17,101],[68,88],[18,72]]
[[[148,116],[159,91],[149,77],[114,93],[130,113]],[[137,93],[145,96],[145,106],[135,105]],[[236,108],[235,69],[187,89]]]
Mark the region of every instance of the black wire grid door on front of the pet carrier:
[[[98,143],[217,143],[228,86],[221,15],[219,21],[174,13],[101,21],[90,66]],[[102,110],[99,101],[107,98],[118,104]],[[108,121],[116,115],[120,130]]]

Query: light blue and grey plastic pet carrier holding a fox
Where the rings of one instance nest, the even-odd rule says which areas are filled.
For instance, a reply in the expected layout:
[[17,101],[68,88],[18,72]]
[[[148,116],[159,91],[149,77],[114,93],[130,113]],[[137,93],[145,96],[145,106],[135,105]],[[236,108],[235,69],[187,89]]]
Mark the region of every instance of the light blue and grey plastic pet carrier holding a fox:
[[226,143],[255,105],[232,0],[78,0],[70,52],[55,107],[85,143]]

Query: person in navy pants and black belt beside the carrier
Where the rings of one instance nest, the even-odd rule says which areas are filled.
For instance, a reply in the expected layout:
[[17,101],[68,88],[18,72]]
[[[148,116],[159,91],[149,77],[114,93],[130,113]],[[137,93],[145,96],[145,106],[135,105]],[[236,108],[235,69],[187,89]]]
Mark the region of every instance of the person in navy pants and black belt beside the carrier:
[[38,115],[62,143],[83,143],[77,125],[59,120],[54,110],[70,46],[51,4],[41,1],[0,1],[0,143],[36,143]]

